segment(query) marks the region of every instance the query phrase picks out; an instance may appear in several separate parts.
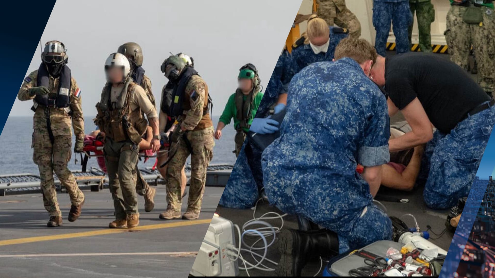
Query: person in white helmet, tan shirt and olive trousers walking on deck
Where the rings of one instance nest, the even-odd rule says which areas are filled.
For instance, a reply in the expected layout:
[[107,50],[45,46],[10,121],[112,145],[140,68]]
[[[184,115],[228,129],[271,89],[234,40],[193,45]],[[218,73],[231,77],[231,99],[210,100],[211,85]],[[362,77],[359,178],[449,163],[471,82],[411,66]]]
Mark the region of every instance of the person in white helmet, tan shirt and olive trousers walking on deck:
[[145,90],[131,77],[131,66],[126,56],[110,54],[105,61],[105,74],[107,83],[96,105],[95,124],[105,134],[103,156],[115,208],[115,220],[109,228],[133,228],[139,225],[134,180],[138,144],[149,124],[153,130],[151,150],[158,151],[158,115]]

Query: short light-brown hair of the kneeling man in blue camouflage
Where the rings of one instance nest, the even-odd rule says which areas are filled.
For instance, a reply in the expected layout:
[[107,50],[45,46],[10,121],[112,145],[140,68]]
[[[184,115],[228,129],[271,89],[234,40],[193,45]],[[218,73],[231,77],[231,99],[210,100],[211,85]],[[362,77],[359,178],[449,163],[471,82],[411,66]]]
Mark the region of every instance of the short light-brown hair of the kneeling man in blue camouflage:
[[335,47],[335,60],[340,58],[349,57],[354,59],[359,64],[367,60],[372,60],[373,65],[376,62],[376,49],[365,39],[343,39],[337,47]]

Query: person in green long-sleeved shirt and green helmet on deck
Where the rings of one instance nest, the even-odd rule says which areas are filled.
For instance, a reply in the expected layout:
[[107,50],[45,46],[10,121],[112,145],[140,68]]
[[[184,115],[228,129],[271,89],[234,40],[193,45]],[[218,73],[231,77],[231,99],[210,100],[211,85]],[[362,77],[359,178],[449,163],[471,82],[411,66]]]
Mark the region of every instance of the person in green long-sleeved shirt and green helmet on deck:
[[237,79],[239,88],[236,90],[236,93],[230,95],[227,104],[225,104],[225,109],[222,116],[220,116],[214,134],[215,139],[220,139],[222,137],[222,129],[234,118],[234,128],[237,131],[234,139],[236,143],[236,157],[241,152],[249,127],[263,97],[259,76],[253,64],[244,65],[239,70]]

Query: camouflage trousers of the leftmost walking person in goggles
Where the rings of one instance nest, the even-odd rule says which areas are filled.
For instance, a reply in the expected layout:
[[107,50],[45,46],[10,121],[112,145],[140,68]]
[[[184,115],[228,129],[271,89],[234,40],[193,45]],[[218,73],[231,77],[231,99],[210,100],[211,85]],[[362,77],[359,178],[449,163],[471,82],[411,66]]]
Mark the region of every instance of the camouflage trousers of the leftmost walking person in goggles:
[[61,216],[53,173],[57,175],[62,186],[69,193],[70,202],[77,206],[84,200],[84,194],[77,186],[76,180],[67,163],[72,156],[72,137],[55,136],[51,143],[48,133],[33,133],[33,161],[40,169],[43,204],[49,216]]

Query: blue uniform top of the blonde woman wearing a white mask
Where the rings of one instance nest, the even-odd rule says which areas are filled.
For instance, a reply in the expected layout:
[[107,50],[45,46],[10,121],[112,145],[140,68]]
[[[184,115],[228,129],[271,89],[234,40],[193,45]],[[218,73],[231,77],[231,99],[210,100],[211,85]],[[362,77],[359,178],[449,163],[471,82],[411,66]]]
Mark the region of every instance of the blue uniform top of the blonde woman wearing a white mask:
[[288,56],[284,65],[285,80],[284,84],[291,82],[292,77],[298,73],[301,69],[314,62],[332,61],[334,58],[335,47],[340,43],[342,39],[349,36],[349,32],[346,29],[340,27],[330,28],[330,44],[326,53],[320,52],[315,54],[311,46],[304,44],[304,37],[299,38],[292,48],[291,54]]

